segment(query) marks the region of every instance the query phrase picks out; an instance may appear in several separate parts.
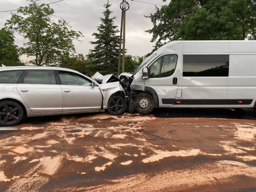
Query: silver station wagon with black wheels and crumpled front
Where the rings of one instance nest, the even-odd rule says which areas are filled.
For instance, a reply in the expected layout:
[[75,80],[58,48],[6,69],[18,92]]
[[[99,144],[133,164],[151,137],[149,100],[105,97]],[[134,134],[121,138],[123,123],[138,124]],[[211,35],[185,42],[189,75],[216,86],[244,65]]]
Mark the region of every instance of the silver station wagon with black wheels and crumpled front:
[[58,67],[0,67],[0,126],[23,116],[44,116],[126,109],[120,82],[100,83],[77,71]]

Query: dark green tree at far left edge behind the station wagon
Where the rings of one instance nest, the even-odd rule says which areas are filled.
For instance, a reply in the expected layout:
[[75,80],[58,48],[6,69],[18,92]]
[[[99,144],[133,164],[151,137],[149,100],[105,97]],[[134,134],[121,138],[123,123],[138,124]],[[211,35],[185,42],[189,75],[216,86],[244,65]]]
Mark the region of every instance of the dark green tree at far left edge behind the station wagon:
[[0,66],[20,66],[18,47],[14,44],[14,34],[6,28],[0,29]]

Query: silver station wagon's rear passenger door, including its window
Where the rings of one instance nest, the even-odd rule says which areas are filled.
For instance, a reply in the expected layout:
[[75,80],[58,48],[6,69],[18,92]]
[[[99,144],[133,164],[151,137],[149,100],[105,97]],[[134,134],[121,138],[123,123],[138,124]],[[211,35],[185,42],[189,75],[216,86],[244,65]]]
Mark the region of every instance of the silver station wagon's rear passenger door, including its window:
[[28,70],[16,88],[33,113],[62,111],[62,92],[53,70]]

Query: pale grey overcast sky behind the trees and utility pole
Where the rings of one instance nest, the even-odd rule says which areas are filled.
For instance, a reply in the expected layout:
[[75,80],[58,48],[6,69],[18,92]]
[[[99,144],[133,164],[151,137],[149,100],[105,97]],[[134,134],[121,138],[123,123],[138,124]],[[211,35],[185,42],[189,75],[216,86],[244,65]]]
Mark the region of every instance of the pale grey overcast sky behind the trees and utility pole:
[[[47,4],[56,1],[57,0],[41,0],[41,3]],[[164,5],[162,0],[140,1],[141,2],[127,0],[130,4],[130,10],[126,11],[127,54],[137,56],[143,56],[151,52],[153,49],[152,46],[154,46],[154,43],[150,42],[152,35],[145,32],[145,30],[151,29],[153,25],[150,19],[145,18],[144,15],[154,13],[155,5],[147,3]],[[89,41],[95,40],[92,33],[97,32],[97,26],[101,24],[99,17],[103,17],[103,5],[106,2],[106,0],[63,0],[50,5],[50,7],[55,10],[57,19],[63,18],[69,20],[73,30],[83,33],[84,38],[81,38],[82,43],[74,41],[77,53],[86,55],[88,51],[93,48],[93,45],[91,45]],[[119,7],[121,2],[122,0],[110,0],[112,4],[110,10],[113,11],[111,17],[117,17],[117,19],[114,20],[114,24],[119,27],[121,23],[121,9]],[[26,0],[0,0],[0,11],[14,10],[20,6],[25,6],[26,3]],[[4,27],[5,21],[11,17],[10,14],[11,12],[0,13],[0,28]],[[15,37],[15,44],[21,46],[23,44],[22,37],[17,34],[15,34]],[[21,59],[26,60],[26,57],[22,57]]]

